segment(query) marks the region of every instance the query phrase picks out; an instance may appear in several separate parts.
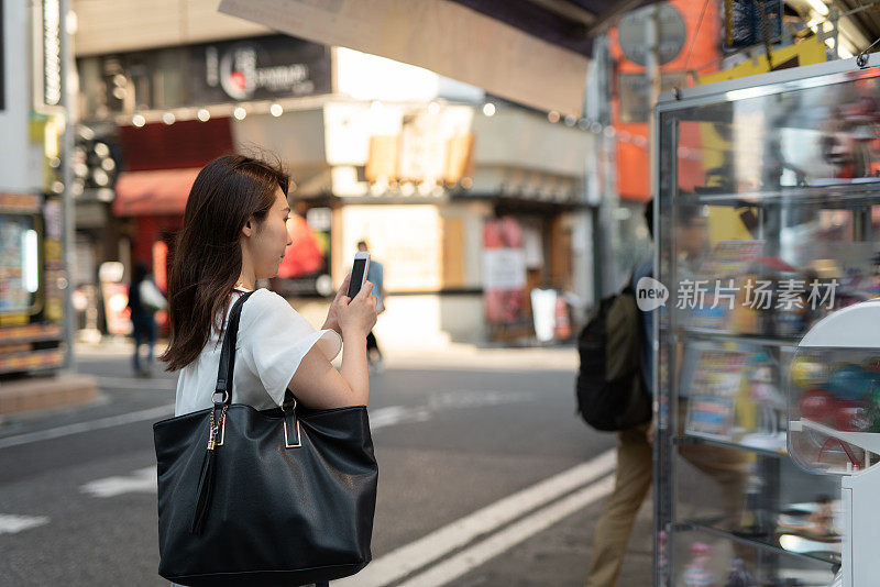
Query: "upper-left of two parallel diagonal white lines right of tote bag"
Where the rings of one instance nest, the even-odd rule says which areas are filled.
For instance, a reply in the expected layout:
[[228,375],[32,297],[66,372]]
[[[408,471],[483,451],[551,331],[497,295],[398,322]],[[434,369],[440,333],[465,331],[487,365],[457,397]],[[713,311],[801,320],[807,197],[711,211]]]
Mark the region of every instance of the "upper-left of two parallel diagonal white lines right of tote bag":
[[615,450],[608,450],[586,463],[517,491],[410,544],[392,551],[370,563],[358,575],[333,582],[333,586],[382,587],[402,579],[481,535],[512,522],[524,513],[604,477],[614,469],[616,462]]

